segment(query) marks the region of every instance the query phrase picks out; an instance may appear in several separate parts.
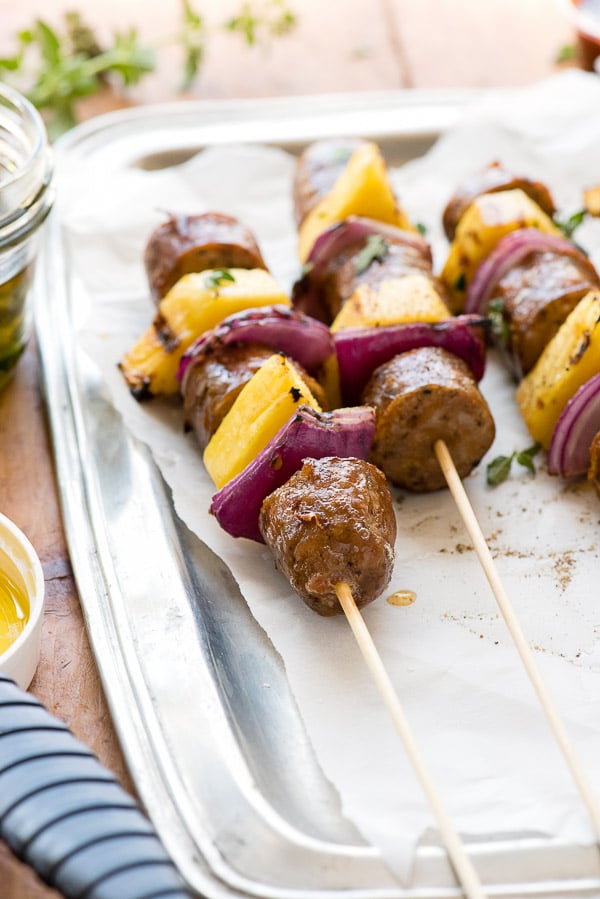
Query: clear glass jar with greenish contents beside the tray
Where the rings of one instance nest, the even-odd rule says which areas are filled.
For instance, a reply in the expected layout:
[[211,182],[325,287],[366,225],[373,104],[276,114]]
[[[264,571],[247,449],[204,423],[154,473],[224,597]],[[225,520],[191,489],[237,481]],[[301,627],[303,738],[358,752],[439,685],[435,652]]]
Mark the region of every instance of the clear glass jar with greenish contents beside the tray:
[[0,83],[0,390],[31,333],[29,287],[40,225],[52,206],[51,182],[52,155],[39,113]]

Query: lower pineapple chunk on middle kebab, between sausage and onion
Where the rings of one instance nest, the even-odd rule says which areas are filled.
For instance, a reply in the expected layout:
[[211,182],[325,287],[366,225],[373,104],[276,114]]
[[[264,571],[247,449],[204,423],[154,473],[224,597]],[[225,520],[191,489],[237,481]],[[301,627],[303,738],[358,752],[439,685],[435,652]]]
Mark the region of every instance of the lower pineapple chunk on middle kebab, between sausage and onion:
[[359,284],[338,312],[331,330],[440,322],[449,314],[429,278],[425,275],[405,275],[382,281],[377,287]]

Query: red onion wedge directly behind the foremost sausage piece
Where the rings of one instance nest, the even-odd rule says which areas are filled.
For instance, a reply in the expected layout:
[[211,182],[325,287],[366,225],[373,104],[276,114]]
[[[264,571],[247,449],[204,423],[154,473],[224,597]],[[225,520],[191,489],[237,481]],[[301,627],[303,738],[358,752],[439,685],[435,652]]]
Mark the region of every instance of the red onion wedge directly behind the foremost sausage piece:
[[368,459],[375,433],[371,406],[316,412],[300,406],[264,450],[215,493],[210,511],[232,537],[263,543],[258,528],[262,502],[302,467],[324,456]]

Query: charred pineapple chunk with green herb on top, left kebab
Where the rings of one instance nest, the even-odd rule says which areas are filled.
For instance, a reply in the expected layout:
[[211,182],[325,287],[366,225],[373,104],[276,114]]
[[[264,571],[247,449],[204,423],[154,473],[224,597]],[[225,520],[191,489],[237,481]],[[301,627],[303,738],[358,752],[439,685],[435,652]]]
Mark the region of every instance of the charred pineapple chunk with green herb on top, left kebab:
[[161,300],[152,326],[125,353],[120,369],[137,399],[179,392],[184,352],[226,316],[254,306],[290,305],[263,269],[215,269],[184,275]]

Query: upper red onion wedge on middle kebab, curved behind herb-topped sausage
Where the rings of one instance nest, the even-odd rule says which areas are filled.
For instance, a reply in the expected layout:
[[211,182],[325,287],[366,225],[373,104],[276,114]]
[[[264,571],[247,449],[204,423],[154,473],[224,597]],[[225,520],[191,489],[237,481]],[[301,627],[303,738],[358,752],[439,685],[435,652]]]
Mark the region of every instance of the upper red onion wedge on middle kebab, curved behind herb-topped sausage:
[[432,262],[431,247],[420,234],[403,231],[375,219],[351,215],[344,221],[331,225],[317,237],[306,260],[305,274],[294,284],[292,291],[294,307],[319,321],[324,321],[319,283],[326,274],[329,264],[349,248],[360,248],[371,234],[379,234],[390,243],[414,247],[429,263]]

